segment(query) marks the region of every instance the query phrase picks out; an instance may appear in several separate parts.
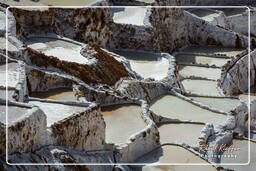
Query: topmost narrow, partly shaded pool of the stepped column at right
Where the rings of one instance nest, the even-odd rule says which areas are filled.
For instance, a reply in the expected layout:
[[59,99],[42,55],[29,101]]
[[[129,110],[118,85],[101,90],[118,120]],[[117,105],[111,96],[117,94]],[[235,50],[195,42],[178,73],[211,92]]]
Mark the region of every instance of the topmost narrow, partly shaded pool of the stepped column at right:
[[226,54],[227,56],[236,56],[244,49],[227,48],[218,46],[189,46],[183,49],[183,52],[207,53],[207,54]]

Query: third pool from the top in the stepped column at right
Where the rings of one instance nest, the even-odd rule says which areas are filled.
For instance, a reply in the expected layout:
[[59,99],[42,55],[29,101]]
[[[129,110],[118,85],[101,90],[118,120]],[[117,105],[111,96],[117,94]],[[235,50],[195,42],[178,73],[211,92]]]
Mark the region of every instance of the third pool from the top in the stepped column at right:
[[221,70],[198,66],[179,66],[179,73],[182,76],[198,76],[217,80],[220,78]]

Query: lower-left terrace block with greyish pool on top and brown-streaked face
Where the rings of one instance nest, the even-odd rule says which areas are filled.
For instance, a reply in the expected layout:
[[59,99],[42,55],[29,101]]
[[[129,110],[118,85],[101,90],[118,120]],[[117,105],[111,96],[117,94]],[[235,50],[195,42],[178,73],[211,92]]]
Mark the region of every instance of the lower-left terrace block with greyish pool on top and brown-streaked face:
[[[38,107],[12,102],[8,115],[8,153],[28,152],[41,147],[40,137],[46,130],[46,116]],[[5,110],[5,102],[0,101],[1,111]],[[15,113],[13,113],[15,112]],[[18,115],[17,115],[18,113]],[[6,113],[1,113],[0,154],[5,154],[6,145]]]

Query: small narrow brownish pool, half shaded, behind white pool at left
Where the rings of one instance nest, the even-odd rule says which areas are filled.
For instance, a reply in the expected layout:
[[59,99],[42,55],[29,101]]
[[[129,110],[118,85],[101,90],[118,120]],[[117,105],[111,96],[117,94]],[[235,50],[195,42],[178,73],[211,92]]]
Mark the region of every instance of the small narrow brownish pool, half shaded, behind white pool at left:
[[41,99],[76,101],[73,91],[64,88],[52,89],[46,92],[34,92],[30,96]]

